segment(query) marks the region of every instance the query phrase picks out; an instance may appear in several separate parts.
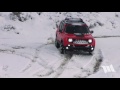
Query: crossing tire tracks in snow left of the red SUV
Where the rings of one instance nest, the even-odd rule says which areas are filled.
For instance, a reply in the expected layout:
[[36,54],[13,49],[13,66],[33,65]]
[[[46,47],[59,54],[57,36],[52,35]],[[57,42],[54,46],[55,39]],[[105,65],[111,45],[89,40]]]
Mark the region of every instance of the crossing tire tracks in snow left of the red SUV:
[[[21,57],[24,57],[24,58],[29,59],[30,62],[29,62],[28,65],[26,65],[22,70],[20,70],[21,73],[25,73],[27,70],[29,70],[29,69],[33,66],[33,64],[34,64],[35,62],[37,62],[39,65],[41,65],[42,67],[44,67],[45,70],[46,70],[46,69],[49,70],[46,74],[41,75],[41,76],[49,76],[51,73],[54,72],[53,69],[52,69],[52,67],[47,66],[47,63],[44,61],[44,59],[42,59],[41,57],[39,57],[40,49],[41,49],[42,47],[46,46],[46,45],[49,45],[49,43],[43,44],[43,45],[37,47],[37,48],[35,49],[35,55],[30,55],[30,56],[32,56],[33,58],[30,58],[30,57],[26,56],[25,53],[18,53],[18,52],[16,52],[16,48],[15,48],[15,49],[14,49],[14,48],[13,48],[13,49],[0,49],[0,52],[6,53],[6,54],[14,54],[14,55],[18,55],[18,56],[21,56]],[[19,49],[20,49],[20,48],[19,48]],[[42,62],[40,62],[40,61],[37,60],[37,59],[39,59],[39,60],[42,61]]]

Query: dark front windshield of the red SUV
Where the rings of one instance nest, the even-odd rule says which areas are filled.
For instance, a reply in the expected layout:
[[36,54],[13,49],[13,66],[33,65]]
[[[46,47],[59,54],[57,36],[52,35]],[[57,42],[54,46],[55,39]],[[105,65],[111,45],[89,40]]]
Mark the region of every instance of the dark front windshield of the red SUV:
[[89,33],[89,29],[86,26],[67,26],[66,33]]

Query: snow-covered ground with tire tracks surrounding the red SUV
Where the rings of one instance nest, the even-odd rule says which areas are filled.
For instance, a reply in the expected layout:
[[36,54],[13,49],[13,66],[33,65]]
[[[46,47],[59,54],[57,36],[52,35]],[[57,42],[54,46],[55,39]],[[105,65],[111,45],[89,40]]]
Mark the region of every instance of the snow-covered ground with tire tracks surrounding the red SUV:
[[[24,12],[32,19],[11,20],[0,13],[0,77],[6,78],[119,78],[119,12]],[[66,16],[82,18],[94,31],[93,56],[61,55],[54,46],[56,23]],[[104,38],[104,36],[111,36]],[[117,37],[112,37],[117,36]],[[116,72],[104,73],[113,65]]]

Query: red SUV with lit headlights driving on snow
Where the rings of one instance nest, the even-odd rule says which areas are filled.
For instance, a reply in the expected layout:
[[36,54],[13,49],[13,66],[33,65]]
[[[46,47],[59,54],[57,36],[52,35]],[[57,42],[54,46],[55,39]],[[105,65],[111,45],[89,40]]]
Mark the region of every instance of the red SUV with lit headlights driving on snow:
[[66,18],[57,25],[55,46],[61,54],[80,50],[92,54],[95,49],[92,33],[81,18]]

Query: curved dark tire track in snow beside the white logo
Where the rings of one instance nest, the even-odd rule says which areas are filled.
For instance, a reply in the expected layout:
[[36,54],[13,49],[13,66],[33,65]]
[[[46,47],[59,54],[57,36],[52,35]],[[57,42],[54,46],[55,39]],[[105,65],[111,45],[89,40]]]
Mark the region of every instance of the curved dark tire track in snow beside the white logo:
[[81,72],[75,75],[75,78],[87,78],[99,71],[100,65],[103,61],[102,51],[98,50],[90,61],[81,68]]

